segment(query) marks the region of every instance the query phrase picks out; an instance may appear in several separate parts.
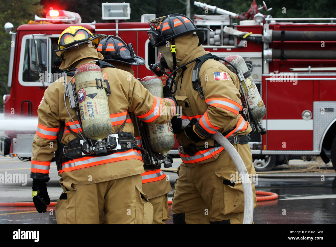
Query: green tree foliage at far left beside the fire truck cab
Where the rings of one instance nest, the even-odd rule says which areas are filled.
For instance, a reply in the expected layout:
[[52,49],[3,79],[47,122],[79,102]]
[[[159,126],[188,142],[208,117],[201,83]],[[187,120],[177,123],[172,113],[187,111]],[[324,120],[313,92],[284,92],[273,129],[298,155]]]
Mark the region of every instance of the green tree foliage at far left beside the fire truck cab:
[[4,94],[9,94],[7,87],[9,53],[11,46],[11,35],[6,33],[3,28],[6,22],[14,25],[14,30],[27,24],[29,20],[34,19],[35,14],[42,14],[43,6],[39,0],[1,0],[0,1],[0,111],[3,111]]

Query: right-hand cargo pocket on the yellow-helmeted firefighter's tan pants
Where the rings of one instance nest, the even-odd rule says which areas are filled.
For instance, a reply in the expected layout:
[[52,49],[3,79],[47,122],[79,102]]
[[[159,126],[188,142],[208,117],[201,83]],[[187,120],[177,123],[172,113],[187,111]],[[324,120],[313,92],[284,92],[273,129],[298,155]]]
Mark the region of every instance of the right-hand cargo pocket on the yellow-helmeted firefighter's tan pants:
[[142,192],[142,188],[135,185],[136,206],[135,206],[135,224],[153,223],[153,206],[148,201],[148,195]]

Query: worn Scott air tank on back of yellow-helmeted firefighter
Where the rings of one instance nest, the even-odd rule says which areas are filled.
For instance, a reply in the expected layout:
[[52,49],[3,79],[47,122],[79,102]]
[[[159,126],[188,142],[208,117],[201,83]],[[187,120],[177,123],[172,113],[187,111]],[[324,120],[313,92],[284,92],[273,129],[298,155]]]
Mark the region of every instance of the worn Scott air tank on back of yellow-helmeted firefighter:
[[101,87],[103,81],[102,71],[95,64],[84,64],[75,72],[83,132],[96,141],[101,141],[112,130],[107,94]]

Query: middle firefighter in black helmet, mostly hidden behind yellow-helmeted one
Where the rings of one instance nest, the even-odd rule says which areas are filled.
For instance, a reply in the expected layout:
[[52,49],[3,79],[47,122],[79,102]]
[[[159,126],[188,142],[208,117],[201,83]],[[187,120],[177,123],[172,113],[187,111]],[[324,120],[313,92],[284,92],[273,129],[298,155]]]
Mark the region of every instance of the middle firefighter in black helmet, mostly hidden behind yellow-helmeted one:
[[[121,45],[129,48],[124,50],[125,53],[130,53],[129,56],[118,54],[120,53],[121,49],[119,47]],[[132,76],[134,76],[132,65],[139,66],[145,63],[142,57],[135,55],[132,44],[127,45],[125,41],[116,36],[109,35],[101,39],[97,49],[104,56],[103,61],[129,72]],[[134,121],[133,114],[131,119]],[[137,129],[135,129],[134,136],[140,138]],[[144,170],[145,172],[141,174],[142,190],[148,195],[148,200],[153,205],[153,224],[163,224],[164,221],[170,219],[167,197],[168,192],[171,191],[170,182],[166,179],[164,172],[158,167],[146,165]]]

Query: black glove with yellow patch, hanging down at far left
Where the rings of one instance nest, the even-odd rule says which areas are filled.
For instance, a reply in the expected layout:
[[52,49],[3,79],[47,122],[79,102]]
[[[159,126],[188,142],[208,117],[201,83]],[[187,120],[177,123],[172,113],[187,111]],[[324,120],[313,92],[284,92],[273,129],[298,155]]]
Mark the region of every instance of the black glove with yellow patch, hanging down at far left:
[[50,198],[47,191],[48,179],[33,179],[33,202],[37,212],[44,213],[47,211],[47,205],[50,204]]

